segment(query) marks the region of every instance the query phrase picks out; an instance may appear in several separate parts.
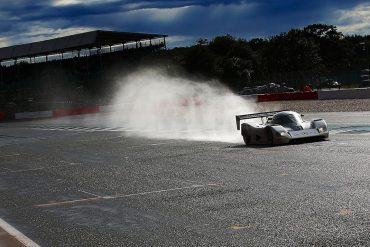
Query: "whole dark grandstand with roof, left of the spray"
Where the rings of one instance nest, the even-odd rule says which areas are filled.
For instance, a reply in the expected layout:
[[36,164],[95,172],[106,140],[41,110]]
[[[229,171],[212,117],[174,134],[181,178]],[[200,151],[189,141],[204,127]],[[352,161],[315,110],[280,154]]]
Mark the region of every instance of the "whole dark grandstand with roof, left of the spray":
[[166,48],[166,37],[96,30],[0,48],[0,112],[106,103],[117,75]]

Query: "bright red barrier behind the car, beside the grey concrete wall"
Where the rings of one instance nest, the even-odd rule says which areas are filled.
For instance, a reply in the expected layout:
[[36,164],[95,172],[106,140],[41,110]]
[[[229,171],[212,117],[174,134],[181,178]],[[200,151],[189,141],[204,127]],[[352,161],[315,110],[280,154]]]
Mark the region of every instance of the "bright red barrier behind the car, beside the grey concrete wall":
[[285,100],[317,100],[317,92],[272,93],[257,95],[257,102]]

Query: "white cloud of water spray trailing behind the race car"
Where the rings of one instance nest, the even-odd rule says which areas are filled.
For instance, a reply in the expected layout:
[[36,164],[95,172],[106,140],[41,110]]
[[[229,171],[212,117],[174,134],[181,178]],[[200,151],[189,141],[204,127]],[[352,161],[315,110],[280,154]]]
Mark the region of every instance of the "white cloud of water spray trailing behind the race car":
[[120,81],[111,125],[147,138],[238,143],[235,115],[256,105],[214,81],[196,82],[147,69]]

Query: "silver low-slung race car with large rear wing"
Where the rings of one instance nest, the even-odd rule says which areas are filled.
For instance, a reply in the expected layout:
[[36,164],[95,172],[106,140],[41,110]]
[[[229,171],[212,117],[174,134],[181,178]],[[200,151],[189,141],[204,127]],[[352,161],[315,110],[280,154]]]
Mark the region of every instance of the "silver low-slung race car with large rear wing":
[[[305,121],[301,114],[293,111],[260,112],[236,116],[237,129],[241,129],[246,145],[287,144],[296,140],[329,138],[328,125],[323,119]],[[241,120],[261,118],[261,123],[250,121],[242,123]]]

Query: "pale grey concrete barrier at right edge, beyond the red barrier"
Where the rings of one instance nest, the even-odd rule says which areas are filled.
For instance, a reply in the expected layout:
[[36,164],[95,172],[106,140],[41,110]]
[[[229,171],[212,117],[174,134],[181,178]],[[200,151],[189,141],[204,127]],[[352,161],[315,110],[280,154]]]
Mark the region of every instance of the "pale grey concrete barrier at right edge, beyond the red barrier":
[[370,99],[370,88],[321,90],[318,91],[318,99]]

